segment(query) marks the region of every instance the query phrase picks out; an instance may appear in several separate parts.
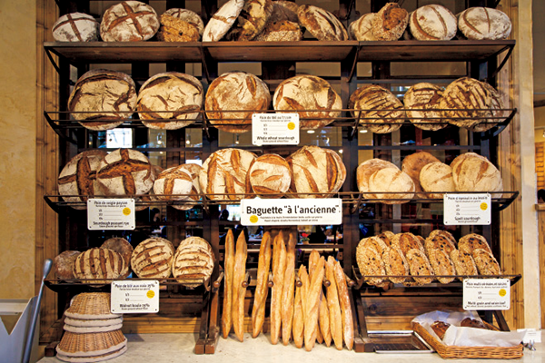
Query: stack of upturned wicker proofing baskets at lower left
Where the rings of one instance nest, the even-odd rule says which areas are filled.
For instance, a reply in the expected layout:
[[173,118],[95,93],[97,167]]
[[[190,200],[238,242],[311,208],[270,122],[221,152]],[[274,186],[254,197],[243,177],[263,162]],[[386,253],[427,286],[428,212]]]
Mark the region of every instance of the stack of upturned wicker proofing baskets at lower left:
[[118,357],[127,350],[121,331],[122,314],[110,312],[110,294],[82,293],[64,312],[64,336],[57,358],[67,362],[99,362]]

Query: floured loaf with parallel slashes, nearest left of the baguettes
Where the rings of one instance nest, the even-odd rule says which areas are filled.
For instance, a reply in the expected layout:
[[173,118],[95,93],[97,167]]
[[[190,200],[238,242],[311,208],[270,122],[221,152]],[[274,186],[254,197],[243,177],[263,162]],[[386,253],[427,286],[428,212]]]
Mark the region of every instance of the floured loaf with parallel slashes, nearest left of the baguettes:
[[173,260],[173,277],[183,286],[194,289],[212,275],[213,250],[208,241],[189,237],[180,242]]

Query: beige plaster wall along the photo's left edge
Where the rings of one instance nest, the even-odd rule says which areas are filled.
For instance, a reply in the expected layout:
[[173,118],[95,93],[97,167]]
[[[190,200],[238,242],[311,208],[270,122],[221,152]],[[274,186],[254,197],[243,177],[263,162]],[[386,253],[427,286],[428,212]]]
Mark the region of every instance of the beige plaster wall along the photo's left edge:
[[35,290],[35,7],[0,1],[0,299]]

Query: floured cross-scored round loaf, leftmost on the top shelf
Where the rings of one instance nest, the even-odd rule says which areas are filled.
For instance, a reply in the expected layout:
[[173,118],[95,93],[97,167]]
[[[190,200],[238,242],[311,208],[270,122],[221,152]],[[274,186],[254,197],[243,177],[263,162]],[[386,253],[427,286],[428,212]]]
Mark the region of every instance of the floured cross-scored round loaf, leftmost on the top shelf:
[[52,31],[57,42],[96,42],[98,22],[91,15],[70,13],[54,22]]

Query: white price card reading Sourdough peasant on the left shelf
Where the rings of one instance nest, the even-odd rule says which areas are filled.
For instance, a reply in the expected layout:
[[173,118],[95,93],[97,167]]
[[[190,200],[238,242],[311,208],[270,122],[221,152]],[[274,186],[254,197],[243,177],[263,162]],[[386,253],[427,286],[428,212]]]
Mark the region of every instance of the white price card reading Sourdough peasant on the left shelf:
[[87,200],[89,230],[134,230],[134,199]]

